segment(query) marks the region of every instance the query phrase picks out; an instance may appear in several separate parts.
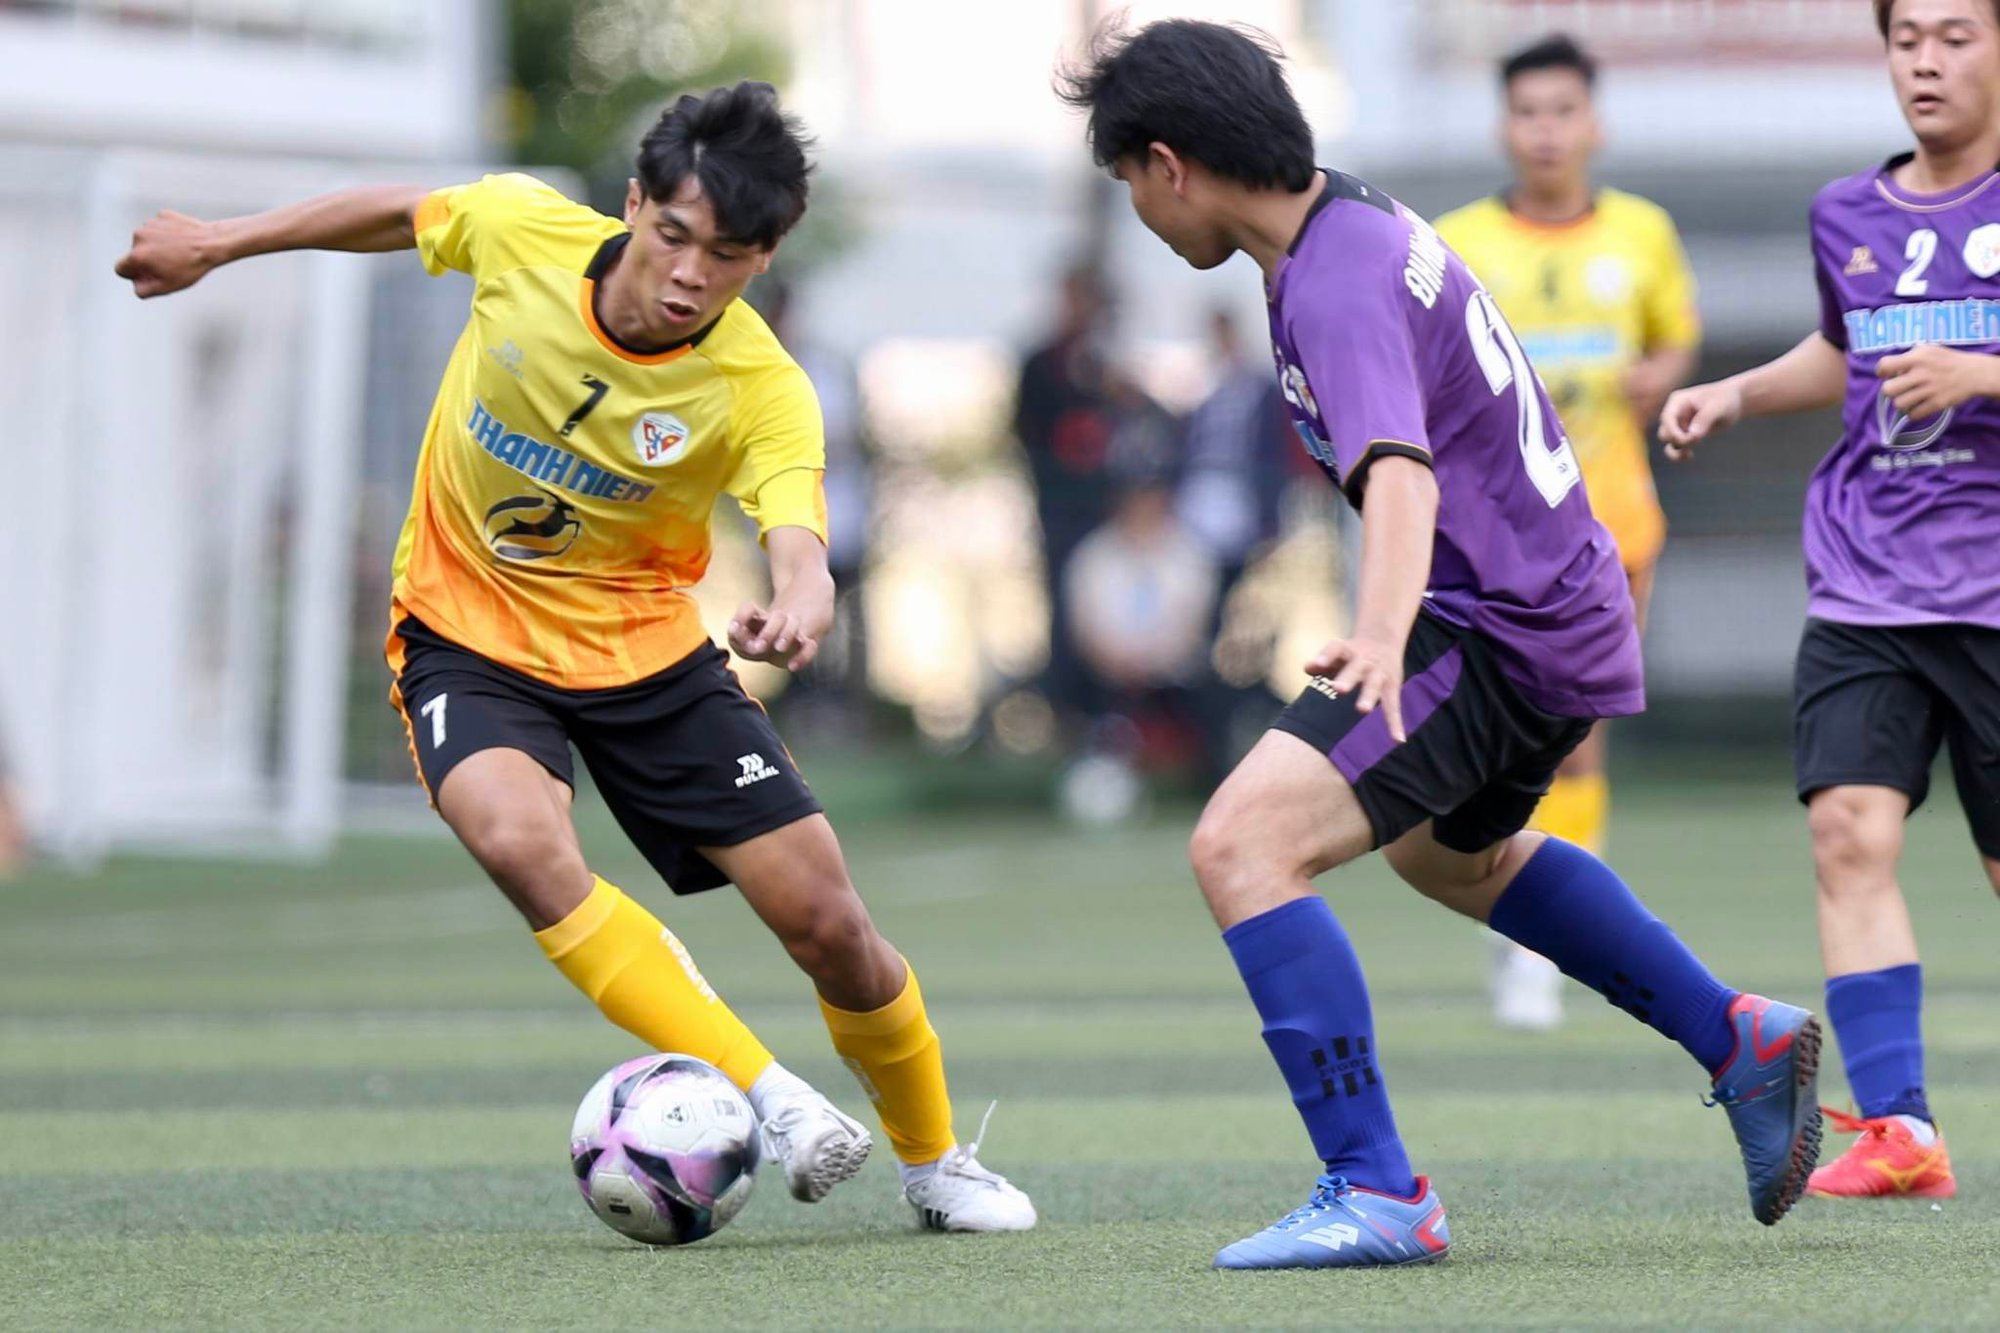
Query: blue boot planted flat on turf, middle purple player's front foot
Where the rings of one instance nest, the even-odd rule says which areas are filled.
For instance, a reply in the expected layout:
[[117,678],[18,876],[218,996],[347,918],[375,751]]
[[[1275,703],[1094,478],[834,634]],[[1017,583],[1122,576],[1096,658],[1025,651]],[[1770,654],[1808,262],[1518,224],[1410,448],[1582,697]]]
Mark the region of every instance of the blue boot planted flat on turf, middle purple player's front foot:
[[1216,1255],[1218,1269],[1374,1269],[1444,1259],[1452,1231],[1428,1177],[1398,1199],[1322,1175],[1312,1199]]

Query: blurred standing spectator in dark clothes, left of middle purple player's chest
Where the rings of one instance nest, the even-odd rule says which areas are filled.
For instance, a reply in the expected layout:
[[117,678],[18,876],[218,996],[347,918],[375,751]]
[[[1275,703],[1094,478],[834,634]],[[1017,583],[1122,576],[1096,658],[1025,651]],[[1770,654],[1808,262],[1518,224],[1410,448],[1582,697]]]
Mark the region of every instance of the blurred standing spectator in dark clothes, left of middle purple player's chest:
[[1062,276],[1056,328],[1020,366],[1014,434],[1028,454],[1048,590],[1048,671],[1042,689],[1058,713],[1084,707],[1084,664],[1072,636],[1066,570],[1110,508],[1110,454],[1118,426],[1104,360],[1108,302],[1096,268]]

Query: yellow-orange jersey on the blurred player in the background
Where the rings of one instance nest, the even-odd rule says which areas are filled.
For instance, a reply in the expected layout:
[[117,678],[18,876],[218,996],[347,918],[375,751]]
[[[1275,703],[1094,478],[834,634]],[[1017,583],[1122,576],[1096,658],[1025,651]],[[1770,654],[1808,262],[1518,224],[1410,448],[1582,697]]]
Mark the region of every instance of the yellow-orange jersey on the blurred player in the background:
[[1658,204],[1598,190],[1576,222],[1546,226],[1482,198],[1438,218],[1466,266],[1500,302],[1548,384],[1584,470],[1590,508],[1626,568],[1650,564],[1666,514],[1646,462],[1646,428],[1624,376],[1640,356],[1702,338],[1694,274],[1674,220]]

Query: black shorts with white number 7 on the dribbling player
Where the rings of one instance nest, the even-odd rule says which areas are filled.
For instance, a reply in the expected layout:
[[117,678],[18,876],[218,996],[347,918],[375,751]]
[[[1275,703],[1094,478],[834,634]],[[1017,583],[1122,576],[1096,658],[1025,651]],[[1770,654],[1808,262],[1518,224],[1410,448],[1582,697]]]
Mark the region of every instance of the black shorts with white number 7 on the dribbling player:
[[730,883],[698,847],[734,847],[820,811],[764,709],[712,642],[632,685],[566,691],[416,618],[404,618],[396,636],[402,671],[390,701],[432,799],[462,759],[490,749],[522,751],[574,787],[574,745],[618,827],[674,893]]

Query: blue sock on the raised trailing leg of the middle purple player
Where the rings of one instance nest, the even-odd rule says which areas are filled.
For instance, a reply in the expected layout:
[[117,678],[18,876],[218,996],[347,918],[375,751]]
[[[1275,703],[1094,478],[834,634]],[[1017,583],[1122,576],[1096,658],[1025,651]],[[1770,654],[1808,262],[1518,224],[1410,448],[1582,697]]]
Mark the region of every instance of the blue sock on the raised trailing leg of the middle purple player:
[[1736,991],[1714,979],[1618,875],[1562,839],[1548,839],[1494,903],[1488,925],[1598,991],[1708,1073],[1736,1049]]

